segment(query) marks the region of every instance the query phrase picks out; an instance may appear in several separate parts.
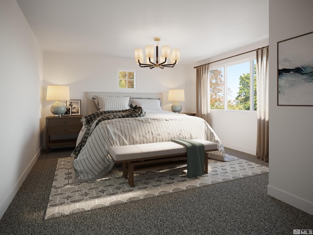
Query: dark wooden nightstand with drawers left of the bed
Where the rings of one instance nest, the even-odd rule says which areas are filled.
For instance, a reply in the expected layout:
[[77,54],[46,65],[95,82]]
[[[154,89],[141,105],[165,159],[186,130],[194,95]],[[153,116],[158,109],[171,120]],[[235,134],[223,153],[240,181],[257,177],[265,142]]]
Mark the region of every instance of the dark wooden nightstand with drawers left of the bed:
[[[81,115],[45,118],[45,153],[51,146],[75,145],[82,128]],[[58,138],[51,138],[57,137]],[[52,140],[53,139],[53,140]]]

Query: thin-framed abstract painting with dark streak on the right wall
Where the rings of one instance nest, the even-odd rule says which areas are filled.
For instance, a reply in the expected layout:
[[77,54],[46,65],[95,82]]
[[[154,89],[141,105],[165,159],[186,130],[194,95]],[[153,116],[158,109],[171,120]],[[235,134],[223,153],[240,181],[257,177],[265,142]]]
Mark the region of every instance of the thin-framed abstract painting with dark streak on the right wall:
[[313,106],[313,32],[277,42],[277,105]]

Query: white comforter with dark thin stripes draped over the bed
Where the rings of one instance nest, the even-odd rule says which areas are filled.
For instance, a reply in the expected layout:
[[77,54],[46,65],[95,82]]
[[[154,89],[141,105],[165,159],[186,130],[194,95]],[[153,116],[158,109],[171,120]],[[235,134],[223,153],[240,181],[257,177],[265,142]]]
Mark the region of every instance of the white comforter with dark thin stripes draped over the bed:
[[[84,127],[83,127],[84,128]],[[173,139],[202,139],[218,143],[210,158],[230,161],[221,141],[202,118],[184,114],[147,114],[139,118],[118,118],[100,122],[74,159],[74,182],[94,180],[108,173],[114,163],[109,146],[164,142]],[[79,140],[78,140],[79,141]]]

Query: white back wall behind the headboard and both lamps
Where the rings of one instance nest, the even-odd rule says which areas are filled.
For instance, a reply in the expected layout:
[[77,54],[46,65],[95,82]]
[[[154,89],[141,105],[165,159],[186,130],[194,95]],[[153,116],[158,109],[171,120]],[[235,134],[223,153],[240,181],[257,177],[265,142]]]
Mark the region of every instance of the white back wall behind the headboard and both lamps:
[[[68,85],[71,99],[81,99],[82,115],[86,115],[86,92],[123,92],[117,89],[118,70],[137,71],[136,93],[163,93],[163,109],[171,110],[169,89],[184,89],[182,112],[195,112],[196,82],[192,66],[174,68],[140,68],[132,59],[91,54],[44,52],[44,87]],[[51,115],[53,101],[44,100],[44,116]]]

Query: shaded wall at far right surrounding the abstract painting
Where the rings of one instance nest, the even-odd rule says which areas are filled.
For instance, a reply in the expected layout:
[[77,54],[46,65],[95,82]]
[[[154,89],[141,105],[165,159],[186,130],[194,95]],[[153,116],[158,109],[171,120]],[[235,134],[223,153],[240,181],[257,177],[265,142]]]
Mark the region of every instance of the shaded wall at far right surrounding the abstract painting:
[[310,214],[313,214],[313,107],[277,106],[276,100],[277,42],[313,31],[312,6],[312,0],[269,1],[268,195]]

